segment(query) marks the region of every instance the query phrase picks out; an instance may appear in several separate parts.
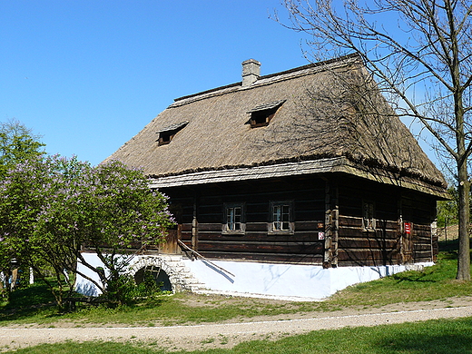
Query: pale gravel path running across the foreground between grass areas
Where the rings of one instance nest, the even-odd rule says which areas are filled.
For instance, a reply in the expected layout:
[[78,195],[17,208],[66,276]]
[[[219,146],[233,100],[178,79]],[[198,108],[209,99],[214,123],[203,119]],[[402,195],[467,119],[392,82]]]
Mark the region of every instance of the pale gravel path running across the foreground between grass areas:
[[[404,310],[399,310],[403,307]],[[396,309],[398,308],[398,309]],[[168,349],[231,348],[252,339],[278,339],[317,329],[377,326],[418,320],[472,317],[472,298],[397,304],[379,309],[284,316],[284,319],[172,327],[0,328],[0,350],[64,340],[152,342]]]

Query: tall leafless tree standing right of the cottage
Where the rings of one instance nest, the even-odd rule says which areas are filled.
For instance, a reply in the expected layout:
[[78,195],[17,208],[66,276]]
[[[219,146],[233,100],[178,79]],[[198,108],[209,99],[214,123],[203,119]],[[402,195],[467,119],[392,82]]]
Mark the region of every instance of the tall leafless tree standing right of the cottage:
[[[284,0],[316,60],[359,54],[399,116],[421,123],[454,165],[457,280],[470,280],[472,4],[469,0]],[[279,19],[278,19],[279,20]],[[280,20],[279,20],[280,21]],[[282,21],[280,21],[282,22]],[[283,23],[283,22],[282,22]]]

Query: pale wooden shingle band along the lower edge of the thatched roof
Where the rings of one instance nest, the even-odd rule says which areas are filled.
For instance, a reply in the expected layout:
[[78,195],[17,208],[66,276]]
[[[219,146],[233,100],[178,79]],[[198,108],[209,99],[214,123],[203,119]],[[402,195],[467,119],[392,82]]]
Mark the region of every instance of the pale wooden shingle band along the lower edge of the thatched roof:
[[271,165],[241,167],[226,170],[188,172],[150,179],[150,187],[156,189],[194,186],[220,182],[239,182],[280,178],[329,172],[347,173],[370,181],[395,185],[410,190],[432,194],[438,199],[448,199],[446,189],[411,177],[398,176],[379,168],[351,162],[346,157],[325,158],[312,161],[286,162]]

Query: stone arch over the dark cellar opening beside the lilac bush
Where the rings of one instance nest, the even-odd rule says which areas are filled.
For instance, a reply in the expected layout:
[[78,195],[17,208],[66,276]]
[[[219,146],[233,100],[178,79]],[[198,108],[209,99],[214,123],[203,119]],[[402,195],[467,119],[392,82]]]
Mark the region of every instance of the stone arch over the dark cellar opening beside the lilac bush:
[[[134,261],[133,264],[129,266],[127,273],[131,275],[134,279],[136,279],[136,275],[139,275],[139,272],[142,270],[150,270],[158,268],[159,269],[159,277],[158,281],[162,281],[164,283],[163,290],[171,290],[175,292],[179,289],[179,279],[176,277],[175,270],[172,269],[166,261],[164,261],[159,256],[144,256],[140,257],[138,260]],[[166,287],[166,281],[168,280],[168,284],[172,289],[168,289]],[[167,288],[167,289],[166,289]]]

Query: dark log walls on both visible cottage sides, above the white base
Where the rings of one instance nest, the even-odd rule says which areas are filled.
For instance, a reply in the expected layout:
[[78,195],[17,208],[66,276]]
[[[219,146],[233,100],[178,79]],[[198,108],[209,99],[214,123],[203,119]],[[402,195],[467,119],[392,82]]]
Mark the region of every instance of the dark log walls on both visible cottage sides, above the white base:
[[[332,266],[381,266],[434,260],[434,200],[428,195],[347,176],[212,183],[173,188],[179,238],[215,260]],[[292,231],[270,232],[271,202],[290,202]],[[375,230],[364,228],[363,204]],[[243,232],[223,232],[225,205],[241,204]],[[406,234],[405,222],[411,225]],[[324,232],[326,240],[320,240]],[[324,262],[324,263],[323,263]]]

